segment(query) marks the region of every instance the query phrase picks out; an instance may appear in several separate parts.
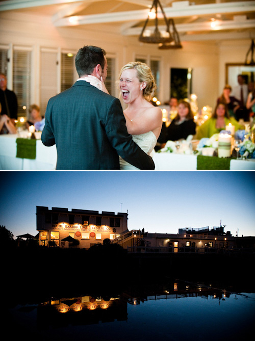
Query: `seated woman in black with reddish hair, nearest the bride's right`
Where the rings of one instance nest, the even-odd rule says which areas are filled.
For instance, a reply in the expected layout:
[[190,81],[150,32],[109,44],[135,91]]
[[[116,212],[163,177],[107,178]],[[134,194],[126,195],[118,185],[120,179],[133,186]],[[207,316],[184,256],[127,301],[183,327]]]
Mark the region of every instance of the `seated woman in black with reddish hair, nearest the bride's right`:
[[196,134],[196,123],[193,120],[190,103],[182,100],[177,107],[177,115],[166,129],[166,141],[187,139]]

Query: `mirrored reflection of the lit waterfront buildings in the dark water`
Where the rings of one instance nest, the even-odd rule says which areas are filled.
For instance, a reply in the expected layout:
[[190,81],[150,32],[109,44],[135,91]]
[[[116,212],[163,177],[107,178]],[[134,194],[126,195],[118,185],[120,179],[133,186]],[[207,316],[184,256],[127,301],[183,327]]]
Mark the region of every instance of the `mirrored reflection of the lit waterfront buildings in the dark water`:
[[224,300],[230,297],[225,290],[211,285],[175,280],[167,284],[132,286],[116,298],[52,298],[37,308],[39,329],[67,325],[93,325],[98,323],[127,321],[127,304],[139,305],[151,300],[175,300],[188,297]]

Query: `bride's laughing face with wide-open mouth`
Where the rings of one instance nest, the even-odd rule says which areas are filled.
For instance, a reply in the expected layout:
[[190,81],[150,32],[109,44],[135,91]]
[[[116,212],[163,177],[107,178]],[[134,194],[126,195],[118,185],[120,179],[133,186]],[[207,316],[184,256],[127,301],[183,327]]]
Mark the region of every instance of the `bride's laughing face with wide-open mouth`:
[[140,96],[142,94],[141,86],[142,83],[137,78],[136,69],[124,70],[119,78],[119,88],[124,103],[131,103]]

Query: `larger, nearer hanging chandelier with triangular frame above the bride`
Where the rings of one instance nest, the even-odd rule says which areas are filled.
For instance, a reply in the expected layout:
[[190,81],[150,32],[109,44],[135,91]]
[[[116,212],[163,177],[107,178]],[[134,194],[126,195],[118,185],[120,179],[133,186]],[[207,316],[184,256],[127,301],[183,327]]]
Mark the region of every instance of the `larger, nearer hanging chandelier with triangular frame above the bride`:
[[[165,31],[160,31],[159,27],[158,27],[158,6],[161,9],[161,12],[163,14],[164,17],[164,21],[166,24],[166,30]],[[147,28],[147,24],[149,19],[155,19],[155,29],[154,31],[150,30],[149,28],[154,28],[153,26]],[[140,34],[139,37],[139,41],[142,41],[144,43],[152,43],[152,44],[164,44],[164,43],[170,43],[171,41],[173,41],[173,38],[171,36],[170,33],[170,29],[169,29],[169,22],[166,18],[165,12],[161,6],[161,3],[159,2],[159,0],[154,0],[152,3],[152,6],[150,8],[150,11],[148,13],[148,17],[147,20],[145,21],[144,27],[142,29],[142,32]]]

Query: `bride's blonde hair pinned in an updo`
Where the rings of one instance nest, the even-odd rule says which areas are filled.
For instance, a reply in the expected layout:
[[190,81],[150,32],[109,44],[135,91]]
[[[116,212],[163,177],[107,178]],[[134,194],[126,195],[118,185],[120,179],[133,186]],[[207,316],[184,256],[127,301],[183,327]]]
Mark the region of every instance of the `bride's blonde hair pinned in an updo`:
[[[151,73],[147,64],[141,62],[130,62],[122,67],[119,73],[119,78],[122,72],[126,69],[136,69],[137,78],[140,83],[145,82],[146,87],[143,89],[143,97],[149,102],[152,93],[157,89],[157,85],[154,80],[154,76]],[[119,83],[119,81],[117,81]]]

